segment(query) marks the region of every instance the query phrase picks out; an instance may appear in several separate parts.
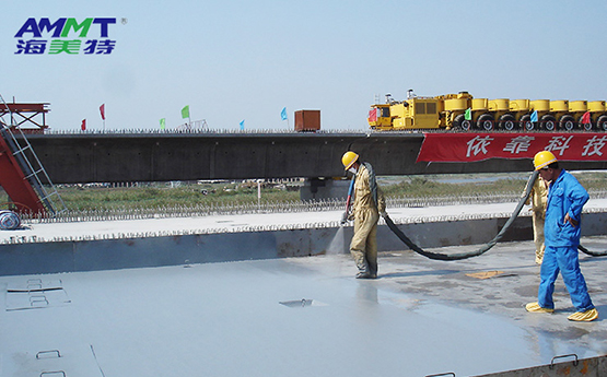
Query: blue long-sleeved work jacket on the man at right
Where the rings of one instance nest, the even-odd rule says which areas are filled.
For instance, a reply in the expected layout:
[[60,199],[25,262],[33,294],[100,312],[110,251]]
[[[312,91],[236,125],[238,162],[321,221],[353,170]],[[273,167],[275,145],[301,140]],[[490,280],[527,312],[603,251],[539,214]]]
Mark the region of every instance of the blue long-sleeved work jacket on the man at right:
[[[574,176],[561,170],[559,177],[550,184],[548,189],[548,207],[546,208],[546,223],[544,236],[546,246],[563,247],[580,245],[580,229],[582,225],[582,209],[588,201],[588,192]],[[572,226],[564,221],[564,215],[577,221]]]

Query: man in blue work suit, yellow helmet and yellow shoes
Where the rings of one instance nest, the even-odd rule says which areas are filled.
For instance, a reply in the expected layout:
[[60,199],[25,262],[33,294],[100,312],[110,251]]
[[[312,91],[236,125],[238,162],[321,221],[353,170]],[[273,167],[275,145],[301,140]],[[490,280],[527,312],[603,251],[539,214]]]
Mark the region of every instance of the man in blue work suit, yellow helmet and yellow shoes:
[[588,295],[577,258],[582,208],[588,201],[588,193],[575,177],[559,167],[552,152],[537,153],[534,165],[535,169],[539,170],[539,176],[550,181],[550,186],[544,228],[546,251],[539,273],[538,301],[527,304],[526,309],[532,313],[555,311],[552,293],[560,271],[576,309],[568,319],[595,320],[598,318],[598,311]]

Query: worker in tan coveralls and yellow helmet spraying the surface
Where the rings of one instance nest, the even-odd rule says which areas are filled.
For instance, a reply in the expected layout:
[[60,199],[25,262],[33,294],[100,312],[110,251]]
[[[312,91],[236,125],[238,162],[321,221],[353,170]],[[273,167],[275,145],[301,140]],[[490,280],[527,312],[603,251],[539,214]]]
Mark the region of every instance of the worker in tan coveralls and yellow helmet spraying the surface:
[[359,273],[357,279],[377,278],[377,221],[386,215],[386,202],[377,187],[375,173],[370,163],[361,162],[352,151],[341,158],[346,170],[354,175],[354,202],[345,217],[354,220],[354,236],[350,243],[350,254],[354,258]]

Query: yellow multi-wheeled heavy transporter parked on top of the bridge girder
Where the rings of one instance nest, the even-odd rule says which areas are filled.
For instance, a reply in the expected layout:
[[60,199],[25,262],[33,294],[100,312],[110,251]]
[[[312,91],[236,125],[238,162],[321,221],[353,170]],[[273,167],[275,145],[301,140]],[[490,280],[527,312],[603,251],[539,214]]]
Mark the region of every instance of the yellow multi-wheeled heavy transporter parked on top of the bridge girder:
[[607,131],[605,101],[489,99],[468,92],[407,99],[386,95],[384,104],[371,106],[372,129],[454,131]]

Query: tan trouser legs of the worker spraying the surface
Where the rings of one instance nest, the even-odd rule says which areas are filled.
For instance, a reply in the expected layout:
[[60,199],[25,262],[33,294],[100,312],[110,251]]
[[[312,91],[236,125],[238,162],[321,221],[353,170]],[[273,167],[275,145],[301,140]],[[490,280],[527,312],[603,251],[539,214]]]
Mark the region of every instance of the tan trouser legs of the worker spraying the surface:
[[374,210],[362,210],[354,215],[354,236],[350,243],[350,254],[361,273],[377,276],[377,221]]

